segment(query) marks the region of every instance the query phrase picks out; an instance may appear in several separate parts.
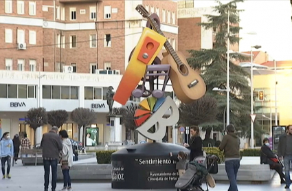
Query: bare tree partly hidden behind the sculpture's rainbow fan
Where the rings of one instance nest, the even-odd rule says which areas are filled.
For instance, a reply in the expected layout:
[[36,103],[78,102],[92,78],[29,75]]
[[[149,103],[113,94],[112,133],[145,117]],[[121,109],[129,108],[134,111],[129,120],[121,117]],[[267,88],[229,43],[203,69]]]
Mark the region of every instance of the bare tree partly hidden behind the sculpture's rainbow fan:
[[[127,105],[125,108],[120,108],[120,113],[122,114],[122,123],[126,127],[126,132],[133,132],[134,134],[134,142],[137,144],[138,142],[138,132],[135,131],[137,126],[134,121],[135,111],[138,109],[139,105],[135,103],[131,103]],[[129,133],[126,133],[127,135]],[[129,137],[127,136],[127,139]]]

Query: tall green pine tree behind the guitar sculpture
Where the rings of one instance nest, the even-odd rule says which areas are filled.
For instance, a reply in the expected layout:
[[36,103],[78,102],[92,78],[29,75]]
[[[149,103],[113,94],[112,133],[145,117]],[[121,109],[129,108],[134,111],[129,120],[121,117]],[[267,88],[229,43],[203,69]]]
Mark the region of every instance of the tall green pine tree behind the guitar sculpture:
[[[227,89],[227,38],[229,37],[230,45],[239,43],[239,12],[236,3],[243,0],[234,0],[223,4],[217,1],[218,5],[214,7],[214,15],[205,15],[207,23],[199,23],[205,30],[216,30],[215,42],[213,49],[190,50],[188,63],[194,69],[201,70],[201,76],[207,86],[207,95],[211,95],[218,101],[218,122],[207,123],[203,125],[206,133],[212,128],[215,131],[223,131],[223,111],[226,106],[226,92],[212,91],[214,87]],[[229,35],[227,32],[229,12]],[[246,56],[240,54],[229,54],[229,87],[230,87],[230,123],[234,124],[241,132],[243,137],[250,136],[250,87],[249,74],[240,66],[234,64],[234,61],[249,60]],[[238,95],[238,96],[236,96]],[[240,95],[240,96],[239,96]],[[220,112],[221,111],[221,112]],[[257,128],[255,124],[255,128]],[[255,135],[261,134],[255,130]],[[209,134],[210,135],[210,134]]]

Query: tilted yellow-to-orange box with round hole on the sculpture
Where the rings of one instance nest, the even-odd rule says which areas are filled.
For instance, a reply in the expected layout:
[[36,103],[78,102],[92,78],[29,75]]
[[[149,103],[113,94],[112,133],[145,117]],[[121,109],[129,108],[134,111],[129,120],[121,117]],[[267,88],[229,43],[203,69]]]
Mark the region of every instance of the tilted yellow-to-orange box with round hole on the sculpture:
[[[155,39],[155,40],[153,40]],[[133,52],[128,67],[115,91],[113,100],[124,105],[130,98],[132,91],[144,77],[146,66],[151,65],[166,42],[166,37],[145,28]]]

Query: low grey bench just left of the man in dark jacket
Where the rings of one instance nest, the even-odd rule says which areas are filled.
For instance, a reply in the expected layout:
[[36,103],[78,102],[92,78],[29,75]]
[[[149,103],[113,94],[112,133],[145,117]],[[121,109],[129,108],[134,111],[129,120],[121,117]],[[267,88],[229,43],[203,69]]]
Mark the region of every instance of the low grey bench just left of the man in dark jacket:
[[[20,155],[23,166],[43,164],[43,150],[41,149],[21,150]],[[23,155],[27,156],[23,157]]]

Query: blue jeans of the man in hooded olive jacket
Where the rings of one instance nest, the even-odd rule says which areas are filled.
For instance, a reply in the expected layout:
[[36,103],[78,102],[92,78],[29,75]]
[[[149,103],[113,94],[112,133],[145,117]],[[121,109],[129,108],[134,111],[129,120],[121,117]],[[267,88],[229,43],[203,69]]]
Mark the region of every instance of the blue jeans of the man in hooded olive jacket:
[[239,159],[225,161],[225,170],[230,183],[228,191],[238,191],[236,179],[239,167],[240,167]]

